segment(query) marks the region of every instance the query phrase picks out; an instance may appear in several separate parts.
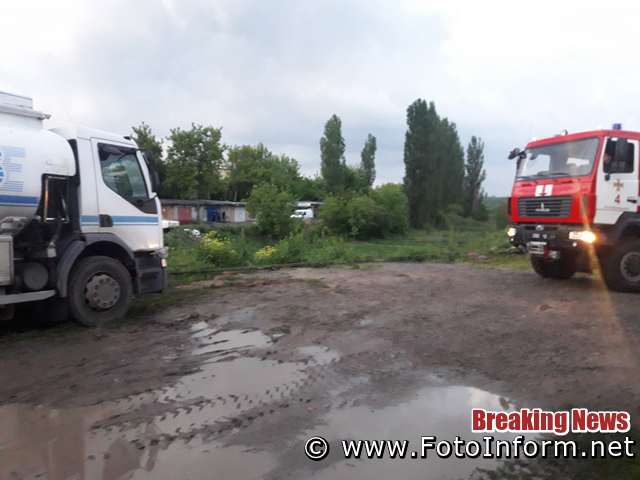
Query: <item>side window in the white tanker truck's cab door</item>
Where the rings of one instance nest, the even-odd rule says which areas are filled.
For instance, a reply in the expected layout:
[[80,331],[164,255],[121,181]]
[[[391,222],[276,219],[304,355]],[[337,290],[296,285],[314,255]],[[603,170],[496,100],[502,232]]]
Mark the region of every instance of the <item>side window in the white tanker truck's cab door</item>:
[[147,186],[135,150],[98,145],[104,183],[127,201],[147,200]]

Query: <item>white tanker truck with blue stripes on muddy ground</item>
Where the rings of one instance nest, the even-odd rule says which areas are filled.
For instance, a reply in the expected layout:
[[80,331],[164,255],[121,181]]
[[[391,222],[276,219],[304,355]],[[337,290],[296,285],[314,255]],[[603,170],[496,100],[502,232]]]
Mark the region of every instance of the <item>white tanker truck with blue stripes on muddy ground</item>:
[[0,316],[121,318],[166,284],[157,174],[130,137],[47,118],[0,92]]

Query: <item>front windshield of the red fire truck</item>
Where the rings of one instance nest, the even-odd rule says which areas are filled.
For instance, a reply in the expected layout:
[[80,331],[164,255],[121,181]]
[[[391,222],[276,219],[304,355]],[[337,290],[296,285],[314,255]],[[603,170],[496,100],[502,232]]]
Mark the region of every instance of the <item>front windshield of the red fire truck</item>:
[[588,175],[597,149],[597,138],[529,148],[518,166],[518,178]]

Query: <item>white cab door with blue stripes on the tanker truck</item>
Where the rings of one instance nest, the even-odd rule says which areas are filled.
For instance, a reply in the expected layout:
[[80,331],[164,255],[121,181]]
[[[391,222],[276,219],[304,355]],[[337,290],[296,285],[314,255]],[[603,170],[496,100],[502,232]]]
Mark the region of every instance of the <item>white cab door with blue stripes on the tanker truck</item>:
[[[83,218],[83,230],[113,233],[133,251],[161,247],[159,201],[141,154],[131,145],[92,140],[96,160],[98,216]],[[91,223],[91,225],[87,225]]]

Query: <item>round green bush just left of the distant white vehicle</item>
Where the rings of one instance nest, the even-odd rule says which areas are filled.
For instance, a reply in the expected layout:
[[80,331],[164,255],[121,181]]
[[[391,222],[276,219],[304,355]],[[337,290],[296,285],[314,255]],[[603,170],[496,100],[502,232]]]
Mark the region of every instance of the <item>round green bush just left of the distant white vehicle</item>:
[[291,214],[295,205],[295,198],[290,193],[264,183],[251,191],[247,211],[255,217],[260,233],[273,238],[284,238],[293,226]]

